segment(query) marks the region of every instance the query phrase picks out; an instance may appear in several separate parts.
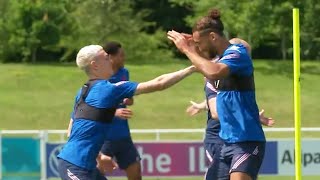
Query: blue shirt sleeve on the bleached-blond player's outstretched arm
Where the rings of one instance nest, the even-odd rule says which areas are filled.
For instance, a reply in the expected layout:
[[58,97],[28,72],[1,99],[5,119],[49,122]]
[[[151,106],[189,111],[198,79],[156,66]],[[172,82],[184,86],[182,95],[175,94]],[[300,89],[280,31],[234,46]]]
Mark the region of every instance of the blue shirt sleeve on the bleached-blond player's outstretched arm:
[[122,100],[124,98],[131,98],[136,92],[138,83],[131,81],[120,81],[114,85],[113,95],[117,100]]

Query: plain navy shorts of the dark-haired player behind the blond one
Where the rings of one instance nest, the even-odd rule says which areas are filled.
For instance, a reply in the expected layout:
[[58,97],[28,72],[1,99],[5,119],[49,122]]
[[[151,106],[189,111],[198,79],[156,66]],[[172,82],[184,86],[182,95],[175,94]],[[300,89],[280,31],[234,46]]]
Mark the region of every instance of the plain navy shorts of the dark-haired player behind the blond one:
[[141,160],[131,138],[105,141],[101,152],[115,158],[120,169],[127,169],[131,164]]

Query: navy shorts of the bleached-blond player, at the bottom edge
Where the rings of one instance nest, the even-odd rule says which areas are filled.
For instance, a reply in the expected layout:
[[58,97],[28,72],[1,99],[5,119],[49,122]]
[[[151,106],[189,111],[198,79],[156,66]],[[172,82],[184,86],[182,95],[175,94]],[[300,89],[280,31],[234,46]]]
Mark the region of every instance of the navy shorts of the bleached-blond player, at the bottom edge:
[[60,158],[58,162],[58,171],[62,180],[107,180],[98,169],[86,170]]

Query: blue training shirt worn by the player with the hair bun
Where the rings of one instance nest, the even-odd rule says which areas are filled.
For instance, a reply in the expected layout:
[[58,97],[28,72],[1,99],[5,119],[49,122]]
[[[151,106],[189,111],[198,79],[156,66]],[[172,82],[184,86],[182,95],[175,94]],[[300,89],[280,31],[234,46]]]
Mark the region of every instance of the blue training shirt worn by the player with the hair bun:
[[[253,64],[245,47],[230,45],[218,63],[226,64],[230,75],[253,75]],[[219,81],[216,81],[217,85]],[[265,141],[259,120],[255,90],[218,91],[217,112],[221,124],[220,137],[227,143]]]

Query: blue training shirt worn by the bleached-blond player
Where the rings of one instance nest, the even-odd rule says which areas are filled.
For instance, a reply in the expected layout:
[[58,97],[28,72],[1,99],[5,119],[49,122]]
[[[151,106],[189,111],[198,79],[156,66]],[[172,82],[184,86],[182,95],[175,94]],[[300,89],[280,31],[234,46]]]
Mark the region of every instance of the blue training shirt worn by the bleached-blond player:
[[[97,108],[117,107],[124,98],[131,98],[138,83],[123,81],[111,84],[106,80],[97,80],[90,88],[85,102]],[[81,90],[76,100],[79,100]],[[96,157],[109,135],[111,124],[88,119],[74,119],[68,142],[58,155],[81,168],[96,168]]]

